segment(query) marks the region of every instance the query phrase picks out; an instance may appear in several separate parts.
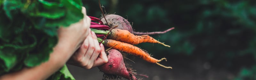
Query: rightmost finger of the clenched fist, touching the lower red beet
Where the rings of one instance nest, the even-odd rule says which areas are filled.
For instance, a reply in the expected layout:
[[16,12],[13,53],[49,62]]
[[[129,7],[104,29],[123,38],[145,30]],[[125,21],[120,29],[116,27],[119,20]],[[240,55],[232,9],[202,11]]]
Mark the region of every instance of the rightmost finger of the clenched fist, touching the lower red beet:
[[103,44],[100,44],[100,48],[101,48],[101,52],[99,54],[99,57],[95,60],[93,67],[100,66],[108,62],[108,57],[105,52]]

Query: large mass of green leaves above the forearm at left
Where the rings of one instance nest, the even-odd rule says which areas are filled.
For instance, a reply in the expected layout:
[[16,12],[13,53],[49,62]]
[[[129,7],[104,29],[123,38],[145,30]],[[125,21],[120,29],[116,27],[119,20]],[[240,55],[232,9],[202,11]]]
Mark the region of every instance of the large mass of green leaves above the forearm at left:
[[81,6],[80,0],[0,0],[0,76],[47,61],[57,29],[81,20]]

